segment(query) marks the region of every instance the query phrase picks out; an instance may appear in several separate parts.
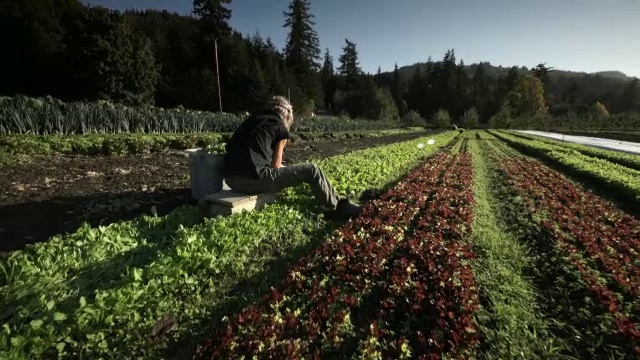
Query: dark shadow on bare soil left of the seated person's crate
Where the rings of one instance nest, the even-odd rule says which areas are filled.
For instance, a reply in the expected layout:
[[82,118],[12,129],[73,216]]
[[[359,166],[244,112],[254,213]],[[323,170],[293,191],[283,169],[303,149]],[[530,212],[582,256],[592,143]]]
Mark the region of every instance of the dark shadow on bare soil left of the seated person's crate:
[[[142,214],[166,215],[179,206],[195,204],[189,189],[124,192],[53,198],[0,207],[0,255],[76,231],[84,222],[108,225]],[[152,207],[155,207],[152,209]]]

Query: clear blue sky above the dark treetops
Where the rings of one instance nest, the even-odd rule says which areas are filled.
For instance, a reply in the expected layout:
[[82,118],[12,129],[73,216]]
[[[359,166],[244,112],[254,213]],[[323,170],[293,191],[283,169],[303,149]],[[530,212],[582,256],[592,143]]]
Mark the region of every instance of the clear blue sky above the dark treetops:
[[[124,9],[189,14],[191,0],[83,0]],[[233,0],[231,26],[256,30],[282,48],[289,0]],[[356,43],[364,71],[442,58],[455,49],[471,64],[618,70],[640,77],[640,0],[311,0],[323,49],[337,66],[344,39]]]

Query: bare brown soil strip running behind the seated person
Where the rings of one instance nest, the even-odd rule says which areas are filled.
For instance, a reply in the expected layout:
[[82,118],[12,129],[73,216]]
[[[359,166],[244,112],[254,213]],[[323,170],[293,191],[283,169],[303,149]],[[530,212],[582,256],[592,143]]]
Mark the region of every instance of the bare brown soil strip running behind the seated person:
[[[338,141],[298,141],[284,161],[297,163],[425,136],[428,132]],[[0,254],[75,231],[193,203],[182,152],[123,157],[46,156],[0,166]]]

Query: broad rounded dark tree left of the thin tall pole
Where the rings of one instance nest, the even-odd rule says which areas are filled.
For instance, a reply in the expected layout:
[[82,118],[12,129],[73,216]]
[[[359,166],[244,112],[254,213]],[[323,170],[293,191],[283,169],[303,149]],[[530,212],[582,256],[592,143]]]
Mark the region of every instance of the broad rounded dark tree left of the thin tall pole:
[[153,104],[159,69],[151,44],[119,13],[86,8],[69,30],[65,42],[75,73],[73,98]]

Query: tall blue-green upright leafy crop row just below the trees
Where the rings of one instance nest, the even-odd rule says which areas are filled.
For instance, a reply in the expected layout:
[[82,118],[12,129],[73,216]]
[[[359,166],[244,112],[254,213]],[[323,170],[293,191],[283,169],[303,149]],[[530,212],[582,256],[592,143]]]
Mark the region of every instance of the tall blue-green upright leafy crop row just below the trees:
[[[184,108],[127,107],[108,101],[64,103],[51,97],[0,97],[0,135],[233,132],[247,113],[213,113]],[[397,128],[395,121],[308,117],[296,132],[372,131]]]

